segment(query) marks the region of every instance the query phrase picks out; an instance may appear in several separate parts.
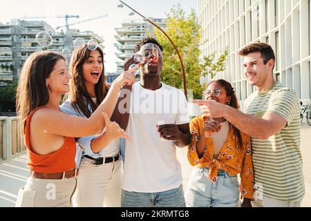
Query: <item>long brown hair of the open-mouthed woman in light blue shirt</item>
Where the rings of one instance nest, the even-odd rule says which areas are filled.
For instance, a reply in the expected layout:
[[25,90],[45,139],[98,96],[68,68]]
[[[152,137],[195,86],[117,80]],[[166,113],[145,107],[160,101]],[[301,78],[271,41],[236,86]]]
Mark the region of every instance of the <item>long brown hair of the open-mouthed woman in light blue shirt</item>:
[[[96,50],[100,52],[104,62],[104,52],[102,52],[102,49],[99,47]],[[88,57],[90,57],[90,55],[91,50],[88,49],[87,45],[84,45],[83,48],[77,48],[73,51],[69,65],[69,72],[73,76],[72,79],[70,79],[71,82],[69,93],[71,105],[73,105],[73,108],[75,108],[76,111],[81,110],[86,117],[91,117],[91,111],[88,110],[88,104],[91,104],[92,111],[94,112],[100,103],[102,103],[109,90],[109,85],[105,83],[103,63],[100,79],[98,80],[97,84],[95,84],[96,104],[88,94],[88,90],[84,84],[82,66]]]

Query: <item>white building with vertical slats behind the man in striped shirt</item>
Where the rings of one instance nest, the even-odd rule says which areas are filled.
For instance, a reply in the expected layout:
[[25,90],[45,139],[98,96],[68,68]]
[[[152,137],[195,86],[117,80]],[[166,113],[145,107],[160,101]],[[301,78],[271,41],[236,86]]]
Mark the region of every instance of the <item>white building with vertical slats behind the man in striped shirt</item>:
[[[255,88],[247,84],[238,51],[252,42],[270,44],[276,54],[274,77],[294,88],[304,104],[310,104],[310,0],[198,0],[203,29],[202,56],[229,48],[227,68],[215,79],[232,83],[243,101]],[[202,77],[209,82],[209,77]]]

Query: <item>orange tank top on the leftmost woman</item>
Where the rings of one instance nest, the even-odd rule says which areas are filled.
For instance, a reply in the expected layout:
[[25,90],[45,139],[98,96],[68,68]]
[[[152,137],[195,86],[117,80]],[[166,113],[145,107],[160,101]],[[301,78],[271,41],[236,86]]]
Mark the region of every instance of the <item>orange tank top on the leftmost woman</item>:
[[30,148],[30,120],[35,108],[26,119],[25,144],[28,151],[27,165],[30,170],[38,173],[60,173],[75,169],[75,138],[65,137],[64,144],[55,152],[47,155],[34,153]]

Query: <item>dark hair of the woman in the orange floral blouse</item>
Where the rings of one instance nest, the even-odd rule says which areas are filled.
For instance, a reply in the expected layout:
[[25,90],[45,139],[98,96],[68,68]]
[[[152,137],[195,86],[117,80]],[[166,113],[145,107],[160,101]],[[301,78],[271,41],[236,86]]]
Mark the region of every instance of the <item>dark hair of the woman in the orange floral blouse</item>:
[[[218,79],[218,80],[214,80],[214,81],[209,82],[209,84],[207,86],[209,86],[212,83],[217,83],[220,86],[222,86],[225,89],[227,96],[231,97],[230,102],[228,104],[229,106],[232,106],[233,108],[236,108],[236,109],[239,108],[238,99],[236,98],[236,94],[234,93],[234,88],[232,88],[232,85],[228,81],[226,81],[224,79]],[[230,122],[229,122],[229,124],[232,125]],[[243,141],[242,141],[241,131],[238,130],[238,128],[236,128],[234,125],[232,125],[232,127],[234,128],[234,134],[238,138],[238,144],[240,144],[240,146],[242,147]]]

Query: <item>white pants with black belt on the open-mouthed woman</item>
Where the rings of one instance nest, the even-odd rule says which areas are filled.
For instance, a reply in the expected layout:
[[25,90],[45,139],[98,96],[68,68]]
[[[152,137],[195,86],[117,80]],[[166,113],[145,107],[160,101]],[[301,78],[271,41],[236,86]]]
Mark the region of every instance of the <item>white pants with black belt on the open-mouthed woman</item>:
[[82,157],[73,206],[121,206],[122,160],[102,165],[93,165],[92,162]]

